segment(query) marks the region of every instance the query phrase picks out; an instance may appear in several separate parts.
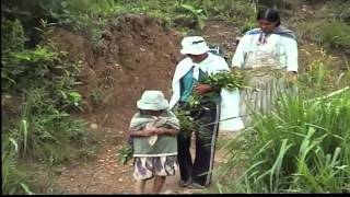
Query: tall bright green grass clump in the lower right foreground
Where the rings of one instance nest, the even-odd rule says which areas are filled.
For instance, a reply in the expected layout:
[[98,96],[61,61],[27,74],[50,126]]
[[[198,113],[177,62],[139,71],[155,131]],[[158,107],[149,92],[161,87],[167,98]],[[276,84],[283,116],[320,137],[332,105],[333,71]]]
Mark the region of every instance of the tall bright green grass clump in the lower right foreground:
[[349,193],[349,90],[312,102],[284,97],[272,112],[255,114],[253,128],[226,143],[231,153],[221,172],[232,174],[241,165],[244,171],[225,189]]

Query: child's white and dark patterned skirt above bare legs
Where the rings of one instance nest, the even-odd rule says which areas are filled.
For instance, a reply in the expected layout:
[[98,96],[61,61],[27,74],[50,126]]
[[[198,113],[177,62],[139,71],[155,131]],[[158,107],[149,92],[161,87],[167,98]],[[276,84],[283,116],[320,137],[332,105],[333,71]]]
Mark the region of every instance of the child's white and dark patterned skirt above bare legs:
[[177,169],[177,155],[136,157],[133,177],[149,179],[153,176],[174,176]]

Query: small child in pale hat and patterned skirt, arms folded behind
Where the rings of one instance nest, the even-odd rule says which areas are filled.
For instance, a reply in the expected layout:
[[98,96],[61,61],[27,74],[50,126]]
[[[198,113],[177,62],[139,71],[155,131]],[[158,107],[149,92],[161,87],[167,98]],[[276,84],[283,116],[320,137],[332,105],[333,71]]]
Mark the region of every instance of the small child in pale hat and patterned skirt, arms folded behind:
[[144,193],[145,182],[153,177],[153,193],[160,193],[166,176],[174,176],[177,169],[179,123],[161,91],[145,91],[137,106],[129,127],[136,193]]

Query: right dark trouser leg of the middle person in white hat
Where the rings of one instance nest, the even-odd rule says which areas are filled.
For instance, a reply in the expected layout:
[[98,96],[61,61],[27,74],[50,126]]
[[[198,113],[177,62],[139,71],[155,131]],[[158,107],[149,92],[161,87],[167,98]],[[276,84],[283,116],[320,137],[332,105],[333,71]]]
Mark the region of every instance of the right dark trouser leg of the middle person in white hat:
[[220,105],[207,106],[200,116],[202,127],[196,132],[196,158],[194,162],[192,182],[201,186],[209,186],[211,183],[211,170],[214,162],[215,144],[219,130]]

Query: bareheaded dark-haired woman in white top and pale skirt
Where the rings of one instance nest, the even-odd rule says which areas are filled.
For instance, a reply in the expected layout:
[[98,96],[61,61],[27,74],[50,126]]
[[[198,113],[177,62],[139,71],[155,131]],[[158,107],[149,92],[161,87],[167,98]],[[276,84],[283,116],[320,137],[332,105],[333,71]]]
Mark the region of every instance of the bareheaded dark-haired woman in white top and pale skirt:
[[[233,69],[246,70],[246,83],[253,88],[241,92],[241,115],[267,112],[282,93],[295,93],[296,89],[294,33],[281,26],[273,9],[259,11],[257,22],[259,27],[245,33],[232,59]],[[245,125],[250,123],[249,116],[243,120]]]

